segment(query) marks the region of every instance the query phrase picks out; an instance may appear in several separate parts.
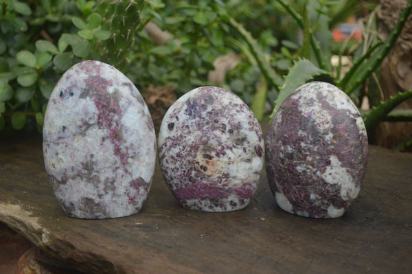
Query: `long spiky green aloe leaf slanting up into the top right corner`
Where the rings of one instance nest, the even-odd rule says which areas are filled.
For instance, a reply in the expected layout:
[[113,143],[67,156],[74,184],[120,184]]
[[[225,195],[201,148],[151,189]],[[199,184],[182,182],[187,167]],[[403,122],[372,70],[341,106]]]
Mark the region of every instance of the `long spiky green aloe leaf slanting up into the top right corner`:
[[342,87],[345,89],[345,92],[347,94],[352,93],[352,91],[354,91],[356,87],[359,86],[359,84],[362,84],[380,65],[385,56],[389,54],[389,51],[400,35],[400,32],[402,31],[402,28],[407,21],[409,14],[411,13],[411,10],[412,0],[409,0],[406,8],[404,8],[402,13],[400,14],[398,22],[396,23],[395,27],[392,28],[391,33],[389,34],[382,47],[380,47],[378,51],[371,54],[370,58],[367,61],[356,67],[356,73],[354,73],[350,78],[347,79],[347,84],[345,85],[345,87]]

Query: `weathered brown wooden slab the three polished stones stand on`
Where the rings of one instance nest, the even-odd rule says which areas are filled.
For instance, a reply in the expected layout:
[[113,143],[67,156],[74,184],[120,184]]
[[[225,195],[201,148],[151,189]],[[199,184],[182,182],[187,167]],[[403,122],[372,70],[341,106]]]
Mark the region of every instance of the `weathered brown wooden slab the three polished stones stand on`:
[[1,141],[0,222],[85,273],[412,273],[412,155],[371,146],[361,193],[337,219],[282,211],[265,174],[246,209],[189,211],[157,167],[139,214],[81,220],[54,197],[39,137]]

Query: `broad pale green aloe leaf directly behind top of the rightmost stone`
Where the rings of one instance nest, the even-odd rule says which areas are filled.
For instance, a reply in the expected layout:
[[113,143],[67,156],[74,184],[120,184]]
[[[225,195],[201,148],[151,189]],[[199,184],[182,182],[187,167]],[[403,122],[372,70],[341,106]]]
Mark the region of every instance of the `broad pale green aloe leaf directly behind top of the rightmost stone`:
[[279,95],[275,101],[275,107],[270,116],[270,119],[273,118],[279,106],[284,102],[284,100],[293,93],[295,89],[300,87],[302,84],[305,84],[309,80],[313,79],[314,76],[319,76],[322,74],[328,74],[328,71],[319,69],[312,64],[309,60],[301,59],[295,62],[292,68],[290,68],[288,75],[285,77],[285,82],[282,88],[279,89]]

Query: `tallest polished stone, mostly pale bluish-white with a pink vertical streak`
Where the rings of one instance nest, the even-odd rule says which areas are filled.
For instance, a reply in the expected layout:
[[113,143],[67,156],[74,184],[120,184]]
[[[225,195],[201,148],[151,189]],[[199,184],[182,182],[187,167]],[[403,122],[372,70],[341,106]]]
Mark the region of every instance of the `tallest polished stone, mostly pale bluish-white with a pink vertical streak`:
[[56,84],[43,127],[45,168],[66,214],[117,218],[139,212],[155,172],[156,136],[141,94],[98,61]]

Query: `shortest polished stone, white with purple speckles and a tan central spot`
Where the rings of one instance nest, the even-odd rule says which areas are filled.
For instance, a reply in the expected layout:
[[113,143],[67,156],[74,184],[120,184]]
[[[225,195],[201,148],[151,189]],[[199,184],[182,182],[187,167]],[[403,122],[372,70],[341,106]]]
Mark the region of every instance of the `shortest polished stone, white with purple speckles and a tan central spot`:
[[194,89],[168,109],[159,132],[161,172],[186,209],[242,209],[264,166],[260,125],[238,96],[218,87]]

